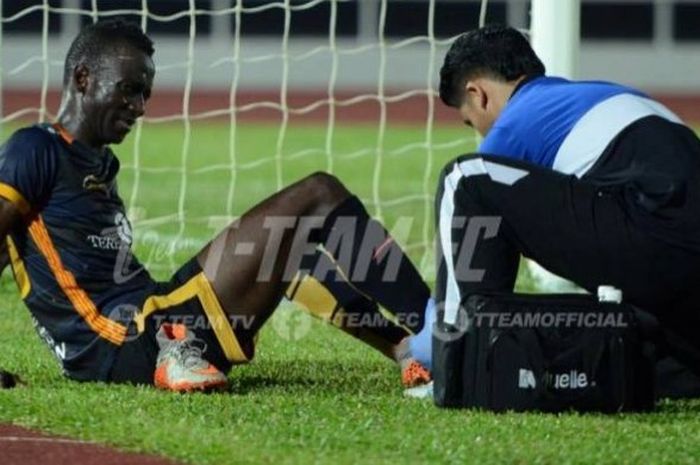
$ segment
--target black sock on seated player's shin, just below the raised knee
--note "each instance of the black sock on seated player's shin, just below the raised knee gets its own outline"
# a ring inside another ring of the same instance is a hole
[[[401,326],[413,332],[423,327],[430,289],[357,197],[336,207],[312,238],[324,246],[358,291],[394,314]]]

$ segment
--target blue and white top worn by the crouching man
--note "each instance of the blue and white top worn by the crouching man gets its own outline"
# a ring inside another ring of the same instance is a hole
[[[625,128],[649,116],[681,122],[629,87],[538,77],[516,89],[479,152],[581,177]]]

